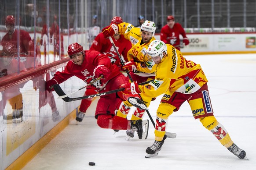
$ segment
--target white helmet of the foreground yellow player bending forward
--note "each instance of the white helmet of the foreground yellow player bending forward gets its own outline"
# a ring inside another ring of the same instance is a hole
[[[160,56],[162,60],[166,54],[167,54],[167,46],[163,41],[154,40],[148,46],[148,49],[147,49],[148,57]]]

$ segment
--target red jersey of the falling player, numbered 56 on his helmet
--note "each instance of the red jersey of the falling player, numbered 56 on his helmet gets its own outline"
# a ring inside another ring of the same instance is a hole
[[[68,64],[66,65],[65,69],[60,72],[57,71],[54,74],[53,79],[55,79],[58,84],[66,81],[67,79],[71,78],[72,76],[76,76],[77,78],[82,79],[87,84],[94,79],[93,71],[95,67],[98,65],[104,65],[108,69],[110,69],[111,74],[109,80],[116,77],[118,74],[121,74],[118,67],[116,65],[112,65],[110,63],[110,59],[102,53],[94,50],[84,50],[84,61],[82,65],[74,64],[72,60],[69,60]],[[100,88],[96,84],[94,84],[96,88]]]

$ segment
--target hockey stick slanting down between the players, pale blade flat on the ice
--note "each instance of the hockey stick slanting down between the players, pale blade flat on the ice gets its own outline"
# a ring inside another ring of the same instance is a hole
[[[109,36],[109,39],[110,39],[110,42],[111,42],[112,46],[114,47],[114,49],[115,49],[116,52],[117,52],[117,56],[119,57],[119,60],[120,60],[121,64],[124,66],[124,61],[122,60],[122,57],[121,57],[120,53],[118,52],[117,47],[116,47],[116,45],[114,44],[112,37]],[[132,77],[131,77],[131,75],[130,75],[130,73],[129,73],[128,70],[126,70],[126,73],[127,73],[128,77],[129,77],[130,81],[133,82]],[[139,96],[140,96],[140,95],[139,95]],[[140,96],[140,98],[141,98],[141,96]],[[151,117],[151,115],[150,115],[150,113],[149,113],[149,110],[146,110],[146,113],[147,113],[148,117],[150,118],[150,120],[151,120],[153,126],[155,127],[156,124],[155,124],[153,118]],[[165,135],[166,135],[168,138],[176,138],[176,133],[171,133],[171,132],[165,131]]]

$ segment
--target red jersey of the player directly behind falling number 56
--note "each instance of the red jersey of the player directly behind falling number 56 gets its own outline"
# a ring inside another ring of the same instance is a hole
[[[124,62],[127,62],[127,53],[132,48],[132,43],[128,39],[125,39],[124,35],[120,35],[119,39],[113,38],[113,42],[116,45],[119,54],[122,55]],[[105,54],[110,58],[112,64],[119,67],[120,59],[116,53],[116,50],[112,46],[110,40],[104,37],[102,32],[96,36],[90,50],[99,51],[100,53]]]

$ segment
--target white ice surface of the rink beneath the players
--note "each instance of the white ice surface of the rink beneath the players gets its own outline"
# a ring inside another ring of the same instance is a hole
[[[185,57],[201,64],[214,115],[249,160],[222,146],[194,120],[187,103],[169,117],[167,131],[177,137],[167,138],[158,156],[146,159],[145,150],[154,142],[151,122],[146,140],[135,135],[126,141],[125,131],[113,135],[113,130],[97,126],[96,99],[82,123],[73,120],[23,170],[256,170],[256,54]],[[149,107],[154,120],[160,99]],[[148,119],[146,113],[143,119]]]

